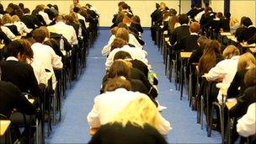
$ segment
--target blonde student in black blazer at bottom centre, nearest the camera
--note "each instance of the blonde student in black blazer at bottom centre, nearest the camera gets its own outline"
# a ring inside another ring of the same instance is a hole
[[[160,113],[152,101],[141,95],[132,99],[109,123],[101,125],[89,144],[167,144],[159,130]]]

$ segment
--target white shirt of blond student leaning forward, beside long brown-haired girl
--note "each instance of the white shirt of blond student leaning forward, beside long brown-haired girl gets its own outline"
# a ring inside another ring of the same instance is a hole
[[[220,61],[216,64],[216,67],[211,68],[211,70],[206,75],[206,78],[214,81],[218,77],[223,77],[222,83],[225,84],[228,88],[236,75],[239,57],[240,56],[232,56],[231,59]],[[221,90],[218,93],[217,99],[219,100],[219,102],[222,101]]]

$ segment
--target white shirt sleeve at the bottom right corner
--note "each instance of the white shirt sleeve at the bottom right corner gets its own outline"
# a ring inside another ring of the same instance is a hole
[[[250,104],[247,113],[237,120],[237,132],[244,137],[256,133],[256,103]]]

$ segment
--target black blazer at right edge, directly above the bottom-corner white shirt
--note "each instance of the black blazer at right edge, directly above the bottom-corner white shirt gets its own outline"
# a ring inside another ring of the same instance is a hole
[[[256,86],[245,89],[243,95],[237,98],[237,104],[229,110],[231,117],[241,117],[246,114],[248,106],[256,102]]]

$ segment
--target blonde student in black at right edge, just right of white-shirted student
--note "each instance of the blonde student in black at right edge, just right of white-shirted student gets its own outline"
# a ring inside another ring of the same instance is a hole
[[[256,67],[253,54],[247,52],[239,57],[237,73],[227,89],[227,98],[237,98],[247,88],[244,84],[244,75],[250,68]]]

